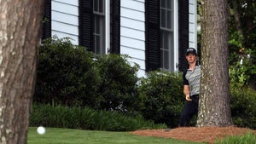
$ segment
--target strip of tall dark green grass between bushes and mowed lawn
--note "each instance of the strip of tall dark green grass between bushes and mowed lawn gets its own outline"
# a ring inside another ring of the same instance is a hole
[[[89,107],[63,107],[61,105],[34,104],[30,117],[30,126],[131,131],[139,129],[164,129],[165,124],[154,124],[141,116],[128,117],[119,112],[96,111]]]

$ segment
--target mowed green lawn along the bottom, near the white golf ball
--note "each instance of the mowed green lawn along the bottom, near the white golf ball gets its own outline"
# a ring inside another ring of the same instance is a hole
[[[46,128],[44,135],[38,135],[37,128],[28,130],[28,144],[199,144],[199,142],[177,141],[160,137],[131,135],[129,132],[96,130],[72,130]]]

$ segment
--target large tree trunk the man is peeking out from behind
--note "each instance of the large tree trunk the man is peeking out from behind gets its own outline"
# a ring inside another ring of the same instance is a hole
[[[202,0],[201,95],[197,126],[229,126],[228,7]]]

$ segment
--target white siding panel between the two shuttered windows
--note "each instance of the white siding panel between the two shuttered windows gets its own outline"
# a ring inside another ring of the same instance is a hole
[[[131,56],[140,66],[138,77],[145,76],[145,3],[121,0],[120,53]]]

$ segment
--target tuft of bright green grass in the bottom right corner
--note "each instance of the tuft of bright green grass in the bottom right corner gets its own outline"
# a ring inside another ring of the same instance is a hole
[[[232,135],[224,140],[216,140],[215,144],[253,144],[256,141],[256,136],[253,133],[247,133],[247,135]]]

